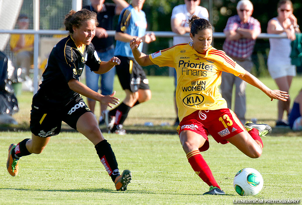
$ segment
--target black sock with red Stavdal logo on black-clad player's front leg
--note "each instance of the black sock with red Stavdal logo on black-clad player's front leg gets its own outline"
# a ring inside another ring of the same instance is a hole
[[[118,170],[117,161],[114,152],[111,149],[111,145],[104,139],[95,145],[95,150],[101,160],[101,163],[104,165],[106,171],[114,182],[115,178],[120,175],[120,172]]]

